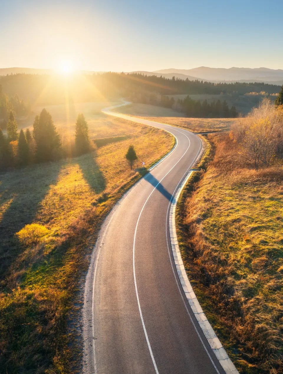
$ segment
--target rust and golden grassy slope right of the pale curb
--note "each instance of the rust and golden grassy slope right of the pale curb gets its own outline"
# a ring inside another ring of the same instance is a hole
[[[240,373],[282,373],[283,170],[252,170],[227,133],[208,137],[215,157],[178,204],[185,268]]]

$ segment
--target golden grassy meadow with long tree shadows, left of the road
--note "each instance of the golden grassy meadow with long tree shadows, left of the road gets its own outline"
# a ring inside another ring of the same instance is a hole
[[[95,116],[91,138],[124,138],[80,157],[0,175],[3,373],[72,372],[67,319],[86,254],[111,207],[139,178],[126,162],[127,148],[133,144],[149,166],[175,142],[159,129]]]

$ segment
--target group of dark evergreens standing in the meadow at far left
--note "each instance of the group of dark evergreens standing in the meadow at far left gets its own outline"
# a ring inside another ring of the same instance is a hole
[[[46,109],[35,117],[32,131],[21,129],[20,132],[14,114],[10,111],[6,130],[7,135],[4,135],[0,129],[0,171],[31,163],[55,161],[67,156],[52,116]],[[91,149],[87,122],[80,113],[77,116],[71,156],[87,153]]]

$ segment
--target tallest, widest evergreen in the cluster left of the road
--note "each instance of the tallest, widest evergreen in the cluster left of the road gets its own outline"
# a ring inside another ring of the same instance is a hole
[[[61,156],[61,140],[52,117],[45,108],[34,119],[33,137],[38,162],[53,161]]]

